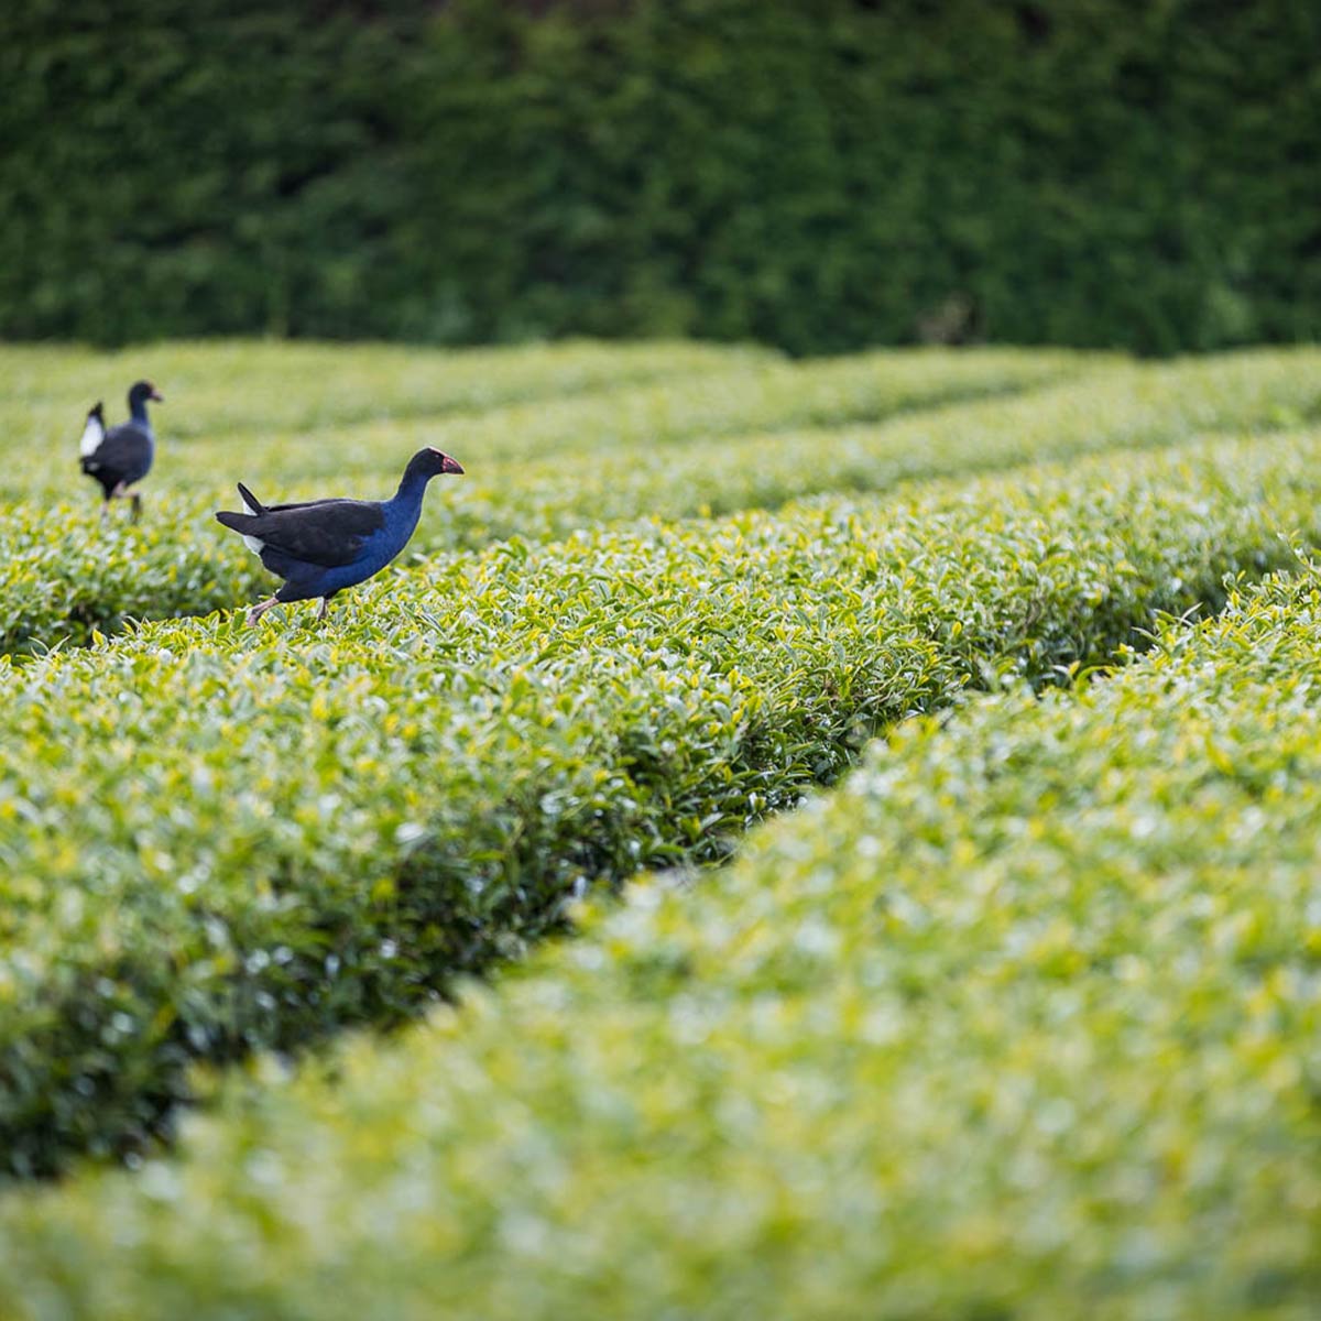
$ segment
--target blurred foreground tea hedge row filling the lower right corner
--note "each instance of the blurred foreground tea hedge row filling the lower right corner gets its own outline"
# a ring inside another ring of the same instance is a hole
[[[0,1206],[16,1321],[1303,1321],[1314,572],[906,724],[695,888],[178,1159]]]

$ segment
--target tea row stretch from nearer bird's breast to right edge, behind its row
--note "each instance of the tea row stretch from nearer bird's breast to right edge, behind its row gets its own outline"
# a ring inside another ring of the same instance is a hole
[[[1090,359],[1083,359],[1090,361]],[[789,499],[881,491],[1108,449],[1176,445],[1217,431],[1321,420],[1321,353],[1236,353],[1106,366],[1009,398],[926,408],[867,425],[694,437],[682,449],[625,448],[590,464],[498,466],[437,502],[421,535],[477,547],[497,536],[563,536],[592,520],[774,509]]]

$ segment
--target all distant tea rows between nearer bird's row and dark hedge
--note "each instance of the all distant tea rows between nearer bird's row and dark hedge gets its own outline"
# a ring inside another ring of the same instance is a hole
[[[12,458],[0,499],[13,501],[0,520],[0,654],[255,598],[271,576],[211,520],[234,505],[235,481],[268,499],[386,494],[424,444],[458,454],[468,474],[427,502],[406,560],[1321,416],[1313,349],[1143,365],[1005,349],[787,363],[659,343],[461,355],[231,343],[136,357],[170,382],[162,453],[151,517],[106,528],[90,483],[70,473],[71,423],[75,400],[114,398],[125,359],[0,349],[0,371],[20,382],[0,400],[0,458]]]

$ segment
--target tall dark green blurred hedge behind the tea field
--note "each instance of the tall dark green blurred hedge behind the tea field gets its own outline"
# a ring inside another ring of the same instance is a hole
[[[1321,11],[29,0],[0,334],[1321,334]]]

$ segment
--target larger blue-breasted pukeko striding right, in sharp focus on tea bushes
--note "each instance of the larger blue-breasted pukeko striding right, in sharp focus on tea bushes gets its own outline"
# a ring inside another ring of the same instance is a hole
[[[464,469],[439,449],[419,449],[391,499],[314,499],[301,505],[263,505],[242,482],[246,514],[217,511],[217,519],[238,532],[248,550],[284,587],[248,610],[258,620],[277,602],[321,597],[324,620],[330,597],[379,573],[407,544],[421,517],[427,483],[441,473]]]

